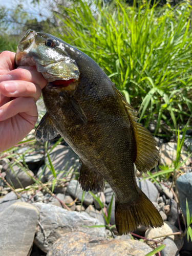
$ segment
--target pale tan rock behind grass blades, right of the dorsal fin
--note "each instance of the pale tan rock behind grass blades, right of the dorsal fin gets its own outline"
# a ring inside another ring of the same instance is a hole
[[[176,160],[177,155],[177,143],[168,142],[163,143],[160,147],[160,158],[159,165],[168,165],[173,166],[173,162]],[[184,161],[187,158],[186,154],[181,151],[181,161]],[[189,159],[186,160],[185,166],[190,165]]]

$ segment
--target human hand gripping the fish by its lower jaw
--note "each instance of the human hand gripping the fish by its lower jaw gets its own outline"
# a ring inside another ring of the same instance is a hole
[[[35,66],[14,69],[15,53],[0,55],[0,152],[16,145],[34,128],[36,101],[46,79]]]

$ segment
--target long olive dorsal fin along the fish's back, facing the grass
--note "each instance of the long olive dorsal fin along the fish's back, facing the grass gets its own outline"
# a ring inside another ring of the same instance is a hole
[[[127,115],[130,118],[130,121],[134,127],[135,140],[137,146],[137,157],[135,161],[136,168],[139,172],[146,173],[148,170],[151,170],[154,166],[157,165],[159,159],[159,149],[157,142],[153,135],[146,130],[142,124],[138,123],[139,119],[136,117],[137,111],[135,111],[132,106],[126,102],[122,94],[117,90],[118,95],[121,97],[121,100],[127,111]]]

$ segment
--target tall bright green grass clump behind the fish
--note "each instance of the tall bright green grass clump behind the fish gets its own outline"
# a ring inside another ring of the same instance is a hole
[[[175,136],[192,113],[191,6],[60,7],[63,40],[93,58],[155,135]],[[163,132],[160,133],[159,129]]]

